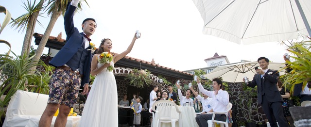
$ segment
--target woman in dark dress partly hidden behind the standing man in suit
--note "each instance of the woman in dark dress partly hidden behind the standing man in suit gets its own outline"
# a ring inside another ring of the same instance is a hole
[[[276,86],[278,88],[278,91],[280,92],[284,102],[283,102],[283,112],[284,116],[286,117],[287,121],[290,123],[291,127],[294,127],[294,120],[292,118],[290,107],[292,107],[292,103],[289,103],[290,93],[289,91],[282,86],[283,83],[280,79],[277,79]]]

